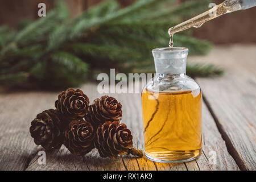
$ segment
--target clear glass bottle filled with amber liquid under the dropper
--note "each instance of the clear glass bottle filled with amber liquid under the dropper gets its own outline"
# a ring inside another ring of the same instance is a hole
[[[188,49],[152,50],[156,75],[142,90],[144,149],[155,162],[178,163],[201,154],[200,86],[185,75]]]

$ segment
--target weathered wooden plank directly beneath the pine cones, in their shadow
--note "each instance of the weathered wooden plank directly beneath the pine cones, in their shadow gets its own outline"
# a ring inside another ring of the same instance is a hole
[[[100,97],[96,84],[86,84],[81,89],[91,102]],[[117,96],[115,97],[121,101]],[[62,146],[59,151],[47,152],[46,154],[46,165],[39,165],[39,156],[35,155],[27,170],[126,170],[122,158],[114,160],[101,158],[96,149],[85,156],[74,156]]]

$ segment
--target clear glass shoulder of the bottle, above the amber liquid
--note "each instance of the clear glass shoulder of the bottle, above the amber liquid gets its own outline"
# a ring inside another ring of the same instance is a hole
[[[152,78],[147,82],[147,85],[144,86],[143,91],[145,89],[150,92],[191,92],[195,96],[201,94],[199,84],[189,76],[178,77],[172,80],[164,80],[161,77]]]

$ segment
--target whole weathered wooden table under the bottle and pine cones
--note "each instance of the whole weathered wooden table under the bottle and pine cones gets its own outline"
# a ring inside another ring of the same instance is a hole
[[[96,150],[73,156],[62,146],[47,152],[46,165],[38,164],[38,151],[28,131],[40,111],[54,108],[58,92],[0,93],[1,170],[255,170],[256,46],[215,47],[207,56],[189,57],[225,68],[221,78],[197,78],[204,95],[203,154],[192,162],[154,163],[124,155],[100,158]],[[96,84],[81,88],[90,100],[100,97]],[[112,94],[123,105],[122,122],[143,149],[140,94]],[[213,153],[216,152],[216,163]]]

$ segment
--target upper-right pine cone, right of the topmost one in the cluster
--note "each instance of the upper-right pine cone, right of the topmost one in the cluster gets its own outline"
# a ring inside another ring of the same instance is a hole
[[[93,101],[89,106],[85,120],[96,128],[106,121],[120,121],[122,119],[122,105],[113,97],[103,96]]]

